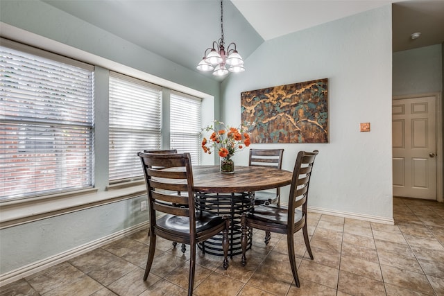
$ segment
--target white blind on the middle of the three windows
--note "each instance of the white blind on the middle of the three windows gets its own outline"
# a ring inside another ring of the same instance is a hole
[[[162,88],[110,72],[110,183],[143,177],[137,152],[160,149]]]

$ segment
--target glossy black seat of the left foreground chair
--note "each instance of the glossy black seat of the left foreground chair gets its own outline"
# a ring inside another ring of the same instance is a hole
[[[196,212],[196,232],[203,232],[223,223],[224,218],[207,211]],[[189,234],[189,218],[167,214],[158,218],[157,227],[180,234]]]

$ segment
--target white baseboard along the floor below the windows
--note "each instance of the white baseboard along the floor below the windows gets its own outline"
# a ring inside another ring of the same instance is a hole
[[[62,263],[64,261],[67,261],[71,258],[74,258],[75,256],[85,254],[89,251],[92,251],[98,247],[101,247],[103,245],[106,245],[108,243],[112,243],[112,241],[117,241],[119,238],[123,238],[123,236],[128,236],[130,234],[133,234],[135,232],[138,232],[139,230],[142,230],[146,227],[148,227],[149,223],[148,221],[144,223],[140,223],[138,225],[135,225],[133,227],[123,229],[119,232],[115,232],[114,234],[110,234],[108,236],[105,236],[103,238],[99,238],[95,241],[91,241],[89,243],[85,243],[84,245],[79,245],[78,247],[75,247],[74,249],[67,250],[65,252],[62,252],[60,254],[56,254],[54,256],[51,256],[49,258],[36,261],[34,263],[25,265],[21,268],[17,268],[16,270],[12,270],[10,272],[6,272],[3,275],[0,275],[0,287],[4,286],[6,284],[12,283],[12,281],[17,281],[17,279],[22,279],[24,277],[28,277],[30,275],[35,274],[36,272],[39,272],[41,270],[44,270],[46,268],[49,268],[53,265],[56,265],[58,263]]]

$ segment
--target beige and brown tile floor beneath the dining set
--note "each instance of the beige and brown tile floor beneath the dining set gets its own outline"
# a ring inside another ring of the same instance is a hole
[[[248,264],[223,270],[221,257],[198,253],[194,295],[444,295],[444,204],[394,199],[395,225],[309,213],[314,260],[296,235],[301,288],[293,284],[285,236],[266,246],[256,232]],[[146,232],[0,288],[0,295],[187,295],[189,252],[160,239],[142,281]]]

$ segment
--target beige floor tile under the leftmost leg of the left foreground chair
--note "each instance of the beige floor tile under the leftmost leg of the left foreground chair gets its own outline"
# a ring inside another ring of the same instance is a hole
[[[107,288],[119,296],[133,296],[141,294],[160,280],[160,277],[150,273],[148,279],[144,281],[144,270],[142,270],[142,268],[136,268],[117,281],[114,281]]]

